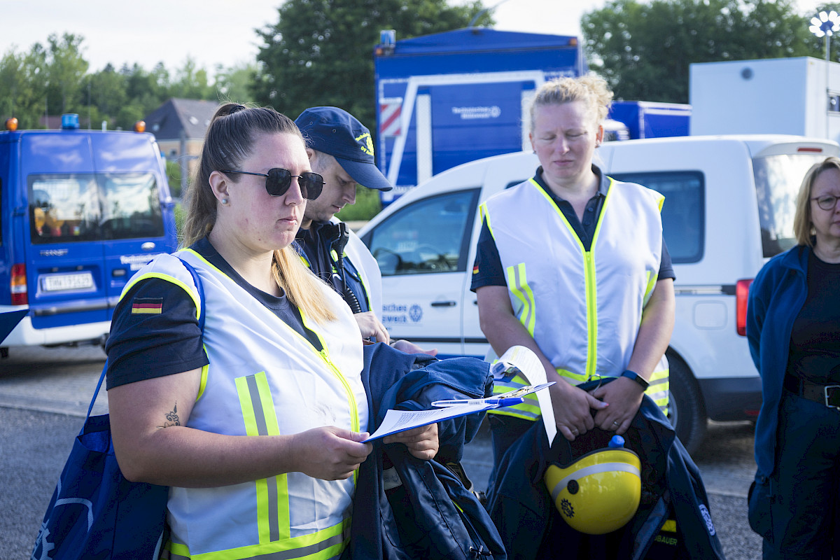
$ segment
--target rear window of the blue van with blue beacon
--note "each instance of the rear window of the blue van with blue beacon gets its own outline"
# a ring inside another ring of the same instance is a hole
[[[102,173],[29,176],[32,243],[160,237],[155,176]]]

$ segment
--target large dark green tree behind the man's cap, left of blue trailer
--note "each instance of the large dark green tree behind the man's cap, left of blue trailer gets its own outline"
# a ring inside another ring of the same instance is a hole
[[[373,128],[373,47],[381,29],[398,39],[466,27],[480,0],[287,0],[279,20],[258,32],[255,102],[296,118],[317,105],[342,107]],[[492,24],[489,13],[477,24]]]

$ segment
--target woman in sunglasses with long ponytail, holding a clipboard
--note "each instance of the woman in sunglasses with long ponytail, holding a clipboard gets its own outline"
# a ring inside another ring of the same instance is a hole
[[[188,249],[139,270],[114,311],[114,449],[127,479],[170,487],[164,557],[346,546],[371,450],[361,335],[289,247],[322,186],[291,119],[220,107],[187,191]],[[389,441],[432,458],[437,429]]]

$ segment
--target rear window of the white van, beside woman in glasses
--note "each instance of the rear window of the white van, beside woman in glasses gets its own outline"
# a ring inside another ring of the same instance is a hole
[[[823,154],[782,154],[753,160],[764,257],[773,257],[796,244],[796,195],[807,170],[825,158]]]

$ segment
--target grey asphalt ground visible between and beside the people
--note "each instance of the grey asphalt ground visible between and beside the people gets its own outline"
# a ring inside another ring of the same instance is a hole
[[[0,361],[0,560],[28,558],[73,438],[104,363],[98,347],[13,348]],[[107,411],[103,389],[94,414]],[[730,560],[761,557],[761,540],[746,519],[754,462],[748,423],[714,423],[695,454],[710,510]],[[465,450],[477,489],[491,468],[485,429]]]

